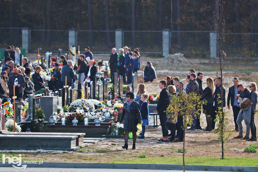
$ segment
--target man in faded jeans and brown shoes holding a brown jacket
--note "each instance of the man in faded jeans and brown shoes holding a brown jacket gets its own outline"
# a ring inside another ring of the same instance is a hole
[[[238,99],[240,99],[240,98],[244,99],[244,98],[249,97],[250,91],[247,88],[245,88],[242,84],[238,84],[237,89],[240,92],[240,94],[237,95]],[[242,138],[242,139],[246,140],[246,139],[249,139],[250,124],[246,120],[244,120],[242,112],[243,112],[243,109],[240,109],[238,116],[237,116],[237,121],[236,121],[237,125],[238,125],[238,129],[239,129],[239,134],[238,134],[238,136],[236,136],[234,138]],[[245,137],[243,137],[243,125],[242,125],[243,120],[247,127]],[[249,127],[248,127],[248,125],[249,125]],[[248,130],[248,128],[249,128],[249,130]]]

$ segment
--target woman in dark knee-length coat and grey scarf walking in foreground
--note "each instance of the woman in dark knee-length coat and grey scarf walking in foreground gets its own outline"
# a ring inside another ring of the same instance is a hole
[[[123,149],[128,148],[128,138],[129,132],[133,133],[133,150],[135,149],[136,142],[136,132],[137,132],[137,124],[142,122],[140,106],[137,102],[133,100],[134,93],[129,91],[126,93],[126,102],[124,103],[124,109],[121,114],[121,118],[119,124],[122,124],[124,121],[124,130],[125,130],[125,145],[122,146]]]

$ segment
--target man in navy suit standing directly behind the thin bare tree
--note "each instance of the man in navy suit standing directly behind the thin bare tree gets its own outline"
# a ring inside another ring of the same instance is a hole
[[[212,110],[212,115],[211,115],[211,119],[212,119],[212,129],[214,129],[215,128],[215,119],[216,119],[216,112],[218,112],[219,110],[218,110],[218,107],[220,106],[221,107],[221,105],[223,106],[223,107],[225,107],[226,106],[226,96],[225,96],[225,94],[226,94],[226,90],[225,90],[225,87],[222,85],[222,83],[221,83],[221,77],[217,77],[216,79],[215,79],[215,82],[214,82],[214,84],[216,85],[216,89],[215,89],[215,91],[214,91],[214,93],[213,93],[213,110]],[[219,102],[218,102],[218,97],[220,96],[220,100],[221,100],[221,90],[223,91],[223,97],[222,97],[222,103],[221,104],[219,104]],[[216,111],[216,112],[215,112]]]

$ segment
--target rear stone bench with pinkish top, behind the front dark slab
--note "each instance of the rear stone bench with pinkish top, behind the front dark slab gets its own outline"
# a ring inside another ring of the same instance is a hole
[[[53,136],[63,136],[63,135],[67,135],[67,136],[78,136],[76,138],[76,146],[86,146],[87,144],[83,143],[83,136],[85,135],[85,133],[77,133],[77,132],[8,132],[5,134],[14,134],[14,135],[38,135],[38,136],[42,136],[42,135],[53,135]]]

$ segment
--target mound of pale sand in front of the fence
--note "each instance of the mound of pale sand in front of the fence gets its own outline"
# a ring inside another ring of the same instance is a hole
[[[182,53],[168,54],[161,61],[161,66],[190,66]]]

